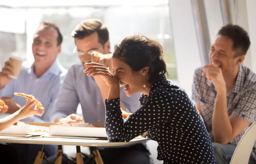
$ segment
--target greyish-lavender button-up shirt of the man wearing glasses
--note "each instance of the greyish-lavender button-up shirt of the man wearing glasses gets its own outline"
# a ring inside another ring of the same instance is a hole
[[[57,96],[50,121],[57,117],[67,117],[76,113],[78,104],[81,104],[84,122],[104,124],[105,104],[101,91],[94,78],[83,73],[82,64],[73,65],[68,69],[63,86]],[[120,99],[127,112],[135,112],[140,108],[141,93],[127,97],[123,88],[120,88]]]

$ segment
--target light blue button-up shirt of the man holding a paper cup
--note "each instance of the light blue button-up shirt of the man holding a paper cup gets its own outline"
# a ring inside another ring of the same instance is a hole
[[[0,90],[1,96],[13,97],[14,101],[24,106],[26,98],[14,95],[14,92],[33,95],[42,103],[45,113],[39,117],[29,117],[21,121],[49,122],[50,114],[67,70],[56,60],[52,66],[39,78],[34,73],[33,64],[24,64],[17,79],[13,79]]]

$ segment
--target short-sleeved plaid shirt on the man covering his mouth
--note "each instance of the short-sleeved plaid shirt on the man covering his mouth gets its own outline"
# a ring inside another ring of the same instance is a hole
[[[202,73],[202,67],[195,70],[192,99],[201,106],[204,124],[213,141],[212,114],[217,92],[212,82],[203,77]],[[256,121],[256,74],[247,67],[240,66],[234,87],[227,94],[227,112],[229,116],[233,114],[251,124]],[[229,144],[237,145],[248,128],[249,126]],[[253,146],[252,155],[256,159],[256,143]]]

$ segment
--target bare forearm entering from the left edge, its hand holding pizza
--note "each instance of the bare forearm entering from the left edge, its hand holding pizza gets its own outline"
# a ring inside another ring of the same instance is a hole
[[[8,128],[9,126],[13,125],[15,122],[19,121],[20,119],[22,118],[19,116],[19,111],[11,114],[10,116],[0,119],[0,132]]]

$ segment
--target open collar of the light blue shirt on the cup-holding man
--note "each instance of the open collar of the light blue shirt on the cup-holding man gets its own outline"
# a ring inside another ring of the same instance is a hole
[[[59,61],[56,59],[53,62],[53,64],[50,66],[50,68],[48,70],[46,70],[45,73],[42,75],[42,78],[47,76],[48,74],[53,74],[53,75],[59,76],[60,73],[62,72],[62,70],[64,70],[64,68],[60,65]],[[33,75],[35,75],[34,63],[29,67],[28,73],[32,73]]]

